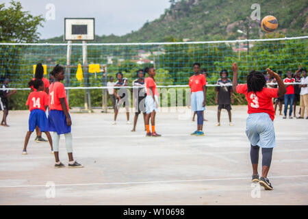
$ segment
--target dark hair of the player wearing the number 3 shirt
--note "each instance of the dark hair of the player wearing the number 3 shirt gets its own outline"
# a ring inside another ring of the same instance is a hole
[[[266,78],[257,70],[252,70],[247,76],[247,92],[260,92],[266,86]]]

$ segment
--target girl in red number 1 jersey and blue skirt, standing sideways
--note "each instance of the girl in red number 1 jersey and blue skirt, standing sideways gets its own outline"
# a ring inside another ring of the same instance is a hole
[[[68,103],[64,85],[60,81],[64,80],[64,68],[56,65],[51,72],[55,81],[49,87],[49,131],[53,131],[53,151],[55,153],[55,168],[63,168],[64,164],[59,159],[60,135],[64,134],[66,151],[68,153],[68,168],[84,167],[73,159],[72,134],[70,133],[70,114],[68,113]]]

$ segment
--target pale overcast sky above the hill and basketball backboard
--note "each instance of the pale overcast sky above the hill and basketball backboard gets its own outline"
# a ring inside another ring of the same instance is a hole
[[[19,0],[23,10],[33,15],[51,18],[38,31],[41,38],[60,36],[64,31],[65,17],[94,17],[95,34],[123,35],[136,31],[148,20],[153,21],[169,8],[169,0]],[[3,1],[2,1],[3,2]],[[4,0],[5,8],[10,0]],[[55,7],[55,18],[48,16],[48,4]]]

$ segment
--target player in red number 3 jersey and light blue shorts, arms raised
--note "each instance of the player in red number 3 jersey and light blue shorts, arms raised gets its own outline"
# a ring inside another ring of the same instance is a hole
[[[247,83],[238,85],[238,66],[234,62],[233,92],[245,94],[248,102],[248,118],[246,120],[246,136],[251,142],[251,164],[253,164],[252,181],[259,182],[266,190],[272,190],[268,180],[268,170],[272,161],[272,150],[275,146],[274,107],[272,98],[287,92],[282,79],[268,68],[268,74],[277,80],[278,88],[265,88],[266,79],[260,72],[253,70],[247,76]],[[262,149],[262,175],[258,175],[259,148]]]

